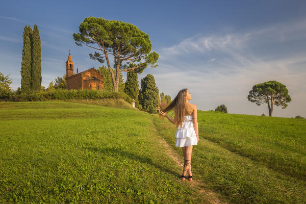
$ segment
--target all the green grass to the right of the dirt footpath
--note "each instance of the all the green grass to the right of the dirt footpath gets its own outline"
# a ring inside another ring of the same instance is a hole
[[[195,179],[232,203],[306,203],[305,121],[198,111],[198,122]],[[175,126],[157,116],[155,125],[182,154]]]

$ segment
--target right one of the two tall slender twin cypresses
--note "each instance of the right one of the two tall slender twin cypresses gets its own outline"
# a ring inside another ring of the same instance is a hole
[[[41,47],[38,27],[34,24],[32,34],[32,90],[40,91],[41,86]]]

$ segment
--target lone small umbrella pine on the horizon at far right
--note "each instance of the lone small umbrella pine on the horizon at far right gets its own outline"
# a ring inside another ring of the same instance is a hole
[[[272,117],[273,105],[282,106],[282,109],[285,109],[288,106],[287,103],[291,101],[286,86],[276,81],[254,85],[247,99],[257,106],[268,104],[270,117]]]

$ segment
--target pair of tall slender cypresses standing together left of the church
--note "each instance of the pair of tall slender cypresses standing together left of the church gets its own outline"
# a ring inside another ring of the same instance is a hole
[[[31,93],[41,90],[41,46],[39,30],[25,25],[21,61],[21,91]]]

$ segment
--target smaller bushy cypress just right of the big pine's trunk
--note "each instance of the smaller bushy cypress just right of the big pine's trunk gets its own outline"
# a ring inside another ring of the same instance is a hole
[[[136,72],[127,72],[124,92],[136,101],[138,100],[139,88],[138,74]]]

